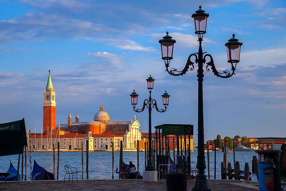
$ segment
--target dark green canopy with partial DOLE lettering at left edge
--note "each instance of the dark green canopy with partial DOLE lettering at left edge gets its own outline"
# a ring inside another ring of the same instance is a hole
[[[25,119],[0,124],[0,156],[22,154],[27,145]]]

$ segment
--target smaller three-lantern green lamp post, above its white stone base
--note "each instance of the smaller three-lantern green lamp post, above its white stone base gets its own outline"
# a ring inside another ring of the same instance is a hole
[[[144,111],[145,108],[148,108],[149,111],[149,136],[148,136],[148,148],[149,148],[149,152],[148,152],[148,162],[147,162],[147,166],[145,168],[146,171],[155,171],[155,167],[153,165],[153,160],[152,160],[152,134],[151,134],[151,111],[152,108],[155,108],[156,111],[158,112],[165,112],[167,109],[167,106],[169,105],[169,97],[170,95],[167,93],[167,91],[164,92],[164,94],[162,95],[163,98],[163,105],[165,106],[164,109],[158,109],[157,107],[157,102],[156,100],[151,98],[151,90],[153,89],[153,85],[154,85],[154,78],[150,77],[146,79],[147,80],[147,86],[149,89],[149,99],[145,99],[143,102],[143,107],[142,109],[135,109],[136,105],[137,105],[137,98],[138,98],[138,94],[135,92],[132,92],[131,96],[131,104],[133,105],[133,109],[136,112],[142,112]]]

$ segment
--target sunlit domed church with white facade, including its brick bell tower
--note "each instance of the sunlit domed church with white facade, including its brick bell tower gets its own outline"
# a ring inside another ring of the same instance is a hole
[[[130,121],[110,121],[109,115],[101,105],[99,111],[94,115],[94,119],[88,122],[80,122],[76,113],[75,122],[72,122],[72,115],[69,112],[67,123],[55,125],[55,91],[49,77],[44,91],[43,103],[43,133],[52,134],[60,130],[60,135],[65,133],[85,134],[111,134],[123,137],[123,148],[134,148],[136,141],[141,140],[142,133],[139,131],[140,123],[134,119]]]

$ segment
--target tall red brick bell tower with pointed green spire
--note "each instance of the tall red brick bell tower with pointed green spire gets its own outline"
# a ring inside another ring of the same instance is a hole
[[[43,133],[55,129],[55,91],[51,80],[50,70],[46,89],[44,90]]]

